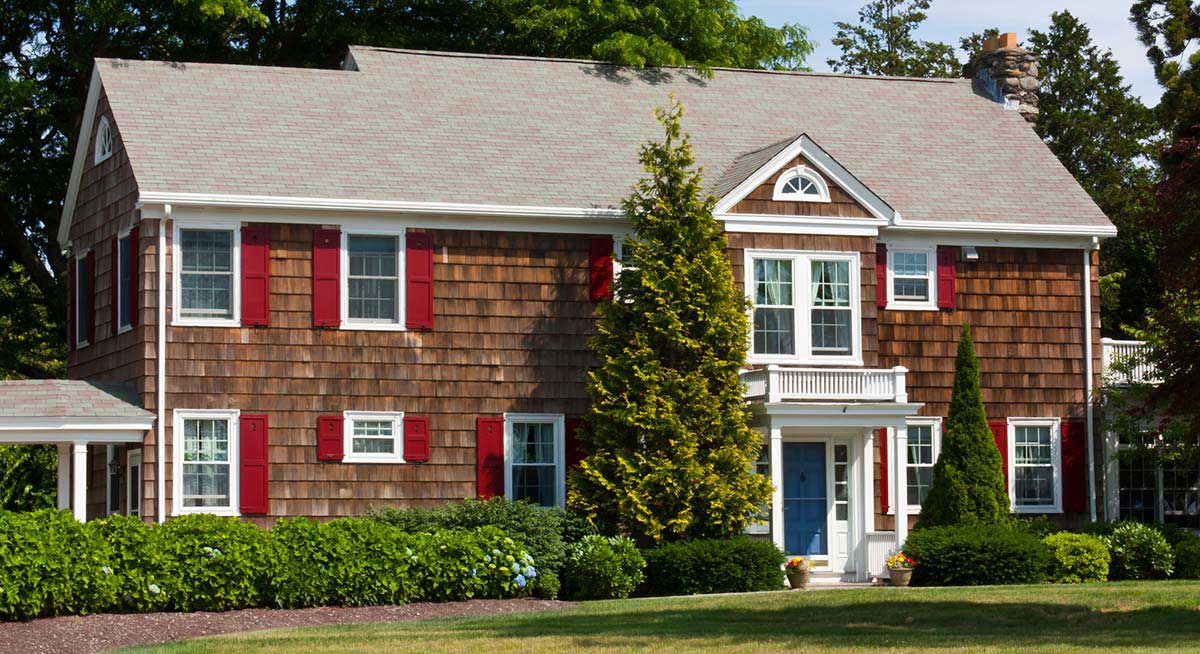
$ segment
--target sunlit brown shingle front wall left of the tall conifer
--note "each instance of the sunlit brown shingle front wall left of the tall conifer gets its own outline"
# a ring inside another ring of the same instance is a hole
[[[313,228],[270,229],[270,326],[168,328],[167,401],[269,415],[271,516],[474,497],[476,416],[584,412],[587,236],[433,232],[434,329],[398,332],[313,329]],[[427,416],[430,462],[318,462],[343,410]]]

